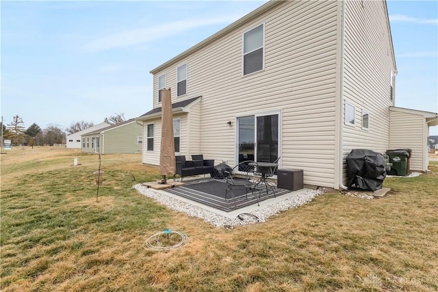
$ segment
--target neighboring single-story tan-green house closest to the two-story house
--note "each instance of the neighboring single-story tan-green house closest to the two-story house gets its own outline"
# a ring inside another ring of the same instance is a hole
[[[82,152],[123,154],[142,152],[143,127],[135,119],[81,136]]]

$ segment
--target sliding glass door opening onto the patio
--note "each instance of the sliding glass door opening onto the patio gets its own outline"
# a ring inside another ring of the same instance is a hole
[[[279,157],[279,114],[237,118],[238,162],[274,162]]]

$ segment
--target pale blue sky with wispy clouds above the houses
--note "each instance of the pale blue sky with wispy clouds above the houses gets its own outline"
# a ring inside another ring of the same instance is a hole
[[[1,1],[1,115],[42,129],[152,108],[149,71],[266,1]],[[387,1],[396,106],[438,112],[437,1]],[[430,133],[438,135],[437,127]]]

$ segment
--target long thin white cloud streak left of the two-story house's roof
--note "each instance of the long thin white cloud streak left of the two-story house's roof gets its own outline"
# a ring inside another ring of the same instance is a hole
[[[183,31],[195,29],[196,27],[203,27],[207,25],[214,25],[218,23],[231,23],[239,16],[225,16],[222,18],[209,19],[193,19],[189,21],[175,21],[154,27],[145,27],[142,29],[131,29],[123,31],[118,34],[112,34],[103,38],[97,38],[83,46],[84,51],[105,51],[120,47],[129,47],[136,44],[144,44],[160,38],[168,38],[181,34]]]

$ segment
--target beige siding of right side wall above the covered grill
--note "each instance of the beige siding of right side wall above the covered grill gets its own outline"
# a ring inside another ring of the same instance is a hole
[[[343,126],[344,158],[355,148],[381,153],[389,148],[391,70],[396,66],[385,2],[345,3],[344,99],[355,106],[356,122]],[[345,103],[342,107],[345,114]],[[361,127],[362,110],[370,117],[368,131]]]

